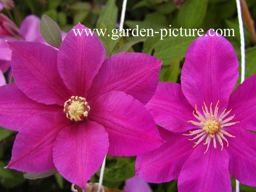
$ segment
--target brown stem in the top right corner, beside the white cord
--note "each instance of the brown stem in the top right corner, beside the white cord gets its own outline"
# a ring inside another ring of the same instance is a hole
[[[244,24],[248,28],[252,43],[255,44],[256,32],[255,32],[255,27],[254,27],[254,21],[252,20],[250,11],[248,9],[248,6],[247,6],[245,0],[240,0],[240,2],[241,2]]]

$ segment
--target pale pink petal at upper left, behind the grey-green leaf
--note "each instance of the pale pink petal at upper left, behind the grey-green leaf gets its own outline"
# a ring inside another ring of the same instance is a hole
[[[36,15],[28,15],[20,25],[20,35],[25,41],[44,43],[43,37],[39,31],[40,19]]]

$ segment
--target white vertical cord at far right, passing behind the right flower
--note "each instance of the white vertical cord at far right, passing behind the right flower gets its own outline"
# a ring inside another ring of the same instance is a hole
[[[236,0],[236,7],[237,7],[237,14],[238,14],[240,42],[241,42],[241,83],[243,83],[245,79],[245,45],[244,45],[244,27],[243,27],[240,0]],[[240,191],[239,185],[240,185],[239,181],[236,180],[236,192]]]

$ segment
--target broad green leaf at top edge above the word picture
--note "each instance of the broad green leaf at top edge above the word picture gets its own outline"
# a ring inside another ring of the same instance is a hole
[[[187,0],[178,14],[182,28],[196,28],[206,14],[208,0]]]

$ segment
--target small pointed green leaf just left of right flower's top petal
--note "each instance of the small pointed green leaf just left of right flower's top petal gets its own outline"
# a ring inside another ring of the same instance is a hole
[[[176,82],[179,75],[180,60],[176,58],[170,67],[165,71],[163,80],[167,82]]]

